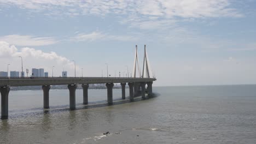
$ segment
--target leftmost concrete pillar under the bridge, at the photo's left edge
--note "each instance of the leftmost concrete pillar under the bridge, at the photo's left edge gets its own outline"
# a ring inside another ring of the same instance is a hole
[[[1,92],[1,119],[8,119],[8,95],[10,87],[0,87]]]

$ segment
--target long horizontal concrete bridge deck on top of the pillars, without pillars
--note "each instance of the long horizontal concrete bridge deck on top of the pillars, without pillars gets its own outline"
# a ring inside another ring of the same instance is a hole
[[[153,82],[155,78],[133,77],[0,77],[0,87],[72,85],[90,83]]]

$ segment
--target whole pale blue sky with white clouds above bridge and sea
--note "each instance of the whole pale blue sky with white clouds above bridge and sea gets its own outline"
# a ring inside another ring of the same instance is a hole
[[[126,76],[146,44],[155,86],[255,84],[255,26],[256,0],[0,0],[0,71]]]

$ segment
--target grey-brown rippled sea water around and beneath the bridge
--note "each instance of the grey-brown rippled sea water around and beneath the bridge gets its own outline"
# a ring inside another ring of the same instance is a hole
[[[256,143],[256,85],[153,85],[153,92],[130,103],[113,89],[108,106],[107,89],[89,89],[85,106],[78,89],[77,110],[69,111],[67,89],[50,90],[49,110],[42,91],[11,91],[0,143]]]

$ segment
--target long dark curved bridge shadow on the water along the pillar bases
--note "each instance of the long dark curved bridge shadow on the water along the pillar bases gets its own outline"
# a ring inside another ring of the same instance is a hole
[[[154,93],[152,97],[146,97],[145,100],[153,99],[158,97],[160,94]],[[99,100],[99,101],[89,101],[88,105],[84,105],[83,103],[76,104],[75,110],[84,110],[84,109],[94,109],[98,107],[107,107],[111,105],[120,105],[126,103],[134,103],[137,101],[143,101],[141,96],[135,97],[133,101],[130,101],[129,97],[125,99],[117,98],[113,99],[113,104],[108,104],[107,100]],[[75,111],[74,110],[74,111]],[[22,110],[11,110],[9,111],[9,119],[15,118],[27,118],[33,116],[40,116],[40,115],[49,115],[51,113],[60,113],[64,111],[71,111],[69,110],[69,105],[58,105],[58,106],[50,106],[49,109],[43,109],[42,107],[37,107],[33,109],[22,109]]]

